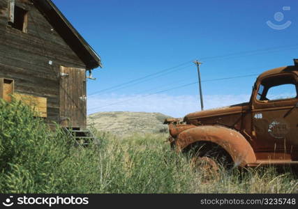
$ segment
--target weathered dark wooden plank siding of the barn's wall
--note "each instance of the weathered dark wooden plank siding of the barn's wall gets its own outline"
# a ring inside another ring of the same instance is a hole
[[[46,97],[47,119],[59,122],[60,65],[86,67],[30,1],[15,1],[29,10],[27,33],[8,25],[8,0],[0,0],[0,77],[14,79],[19,93]]]

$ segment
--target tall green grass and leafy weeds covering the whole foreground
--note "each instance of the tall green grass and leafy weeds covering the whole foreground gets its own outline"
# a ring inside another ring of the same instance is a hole
[[[294,174],[274,167],[223,169],[220,178],[206,180],[170,149],[167,134],[97,135],[100,146],[75,147],[28,107],[0,100],[0,193],[298,192]]]

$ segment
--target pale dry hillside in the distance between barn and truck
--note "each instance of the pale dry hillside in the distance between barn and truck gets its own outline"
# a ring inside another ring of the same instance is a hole
[[[126,135],[134,132],[167,132],[167,125],[163,125],[165,118],[171,117],[160,113],[108,111],[89,115],[87,123],[99,131]]]

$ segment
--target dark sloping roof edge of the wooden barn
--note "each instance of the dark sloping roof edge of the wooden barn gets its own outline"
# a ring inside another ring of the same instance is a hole
[[[51,0],[31,0],[40,10],[40,13],[47,18],[47,21],[53,26],[55,31],[64,39],[64,41],[73,49],[73,52],[84,62],[87,70],[102,68],[100,56],[94,49],[82,38],[80,33],[73,27],[66,17],[60,12],[57,6]]]

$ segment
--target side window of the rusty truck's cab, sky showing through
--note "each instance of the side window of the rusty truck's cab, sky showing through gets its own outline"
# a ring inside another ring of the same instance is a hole
[[[264,79],[259,86],[257,99],[260,101],[290,98],[297,98],[296,80],[290,75]]]

